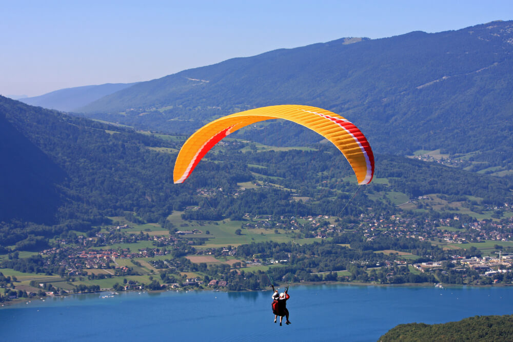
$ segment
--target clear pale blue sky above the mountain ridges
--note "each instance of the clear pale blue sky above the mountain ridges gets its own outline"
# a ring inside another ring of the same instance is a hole
[[[486,4],[486,5],[485,5]],[[148,81],[342,37],[513,19],[513,1],[0,0],[0,94]]]

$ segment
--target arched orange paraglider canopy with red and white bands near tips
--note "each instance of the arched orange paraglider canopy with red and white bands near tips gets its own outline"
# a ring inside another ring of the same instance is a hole
[[[358,184],[369,184],[374,174],[374,155],[363,133],[344,117],[328,110],[281,105],[246,110],[221,117],[192,134],[174,164],[174,183],[183,183],[203,156],[221,139],[245,126],[270,119],[285,119],[305,126],[328,139],[346,157]]]

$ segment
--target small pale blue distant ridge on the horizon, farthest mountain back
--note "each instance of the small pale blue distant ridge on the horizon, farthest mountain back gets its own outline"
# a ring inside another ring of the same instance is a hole
[[[76,110],[98,98],[133,86],[135,83],[107,83],[97,86],[83,86],[55,90],[40,96],[19,99],[32,106],[56,109],[64,112]]]

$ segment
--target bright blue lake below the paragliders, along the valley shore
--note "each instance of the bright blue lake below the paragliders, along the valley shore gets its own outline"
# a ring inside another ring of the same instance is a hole
[[[273,323],[270,291],[129,292],[4,307],[0,336],[13,341],[376,341],[398,324],[513,312],[513,288],[507,287],[294,286],[289,294],[289,326]]]

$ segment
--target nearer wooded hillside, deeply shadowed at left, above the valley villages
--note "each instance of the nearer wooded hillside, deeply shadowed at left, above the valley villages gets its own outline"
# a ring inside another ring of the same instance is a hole
[[[110,222],[109,216],[127,214],[167,229],[174,211],[196,220],[242,219],[246,213],[338,216],[341,208],[345,217],[368,210],[391,214],[401,211],[390,200],[396,193],[404,202],[440,193],[463,200],[471,196],[477,207],[511,203],[508,179],[377,155],[376,178],[348,204],[357,185],[331,144],[275,150],[227,139],[187,182],[175,185],[172,169],[184,136],[140,134],[6,97],[0,97],[0,113],[6,137],[0,145],[5,178],[0,246],[30,239],[30,234],[49,238],[88,231]],[[255,181],[261,185],[246,189],[245,183]],[[432,209],[422,213],[436,214]]]

